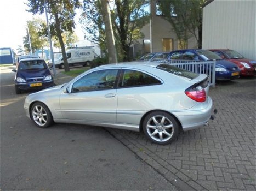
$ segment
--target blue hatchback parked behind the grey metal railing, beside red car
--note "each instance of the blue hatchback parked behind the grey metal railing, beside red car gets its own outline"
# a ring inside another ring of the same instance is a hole
[[[209,50],[187,49],[170,52],[168,59],[192,60],[192,61],[212,61],[216,60],[215,77],[216,80],[234,80],[240,77],[240,69],[236,64],[225,61],[217,54]]]

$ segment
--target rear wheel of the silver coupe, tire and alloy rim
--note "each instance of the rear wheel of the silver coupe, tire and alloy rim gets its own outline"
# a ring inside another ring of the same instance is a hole
[[[166,145],[177,138],[179,125],[177,120],[167,112],[155,111],[145,117],[143,131],[150,141]]]

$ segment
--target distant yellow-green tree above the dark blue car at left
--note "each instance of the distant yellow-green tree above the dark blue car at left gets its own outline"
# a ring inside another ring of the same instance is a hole
[[[33,18],[32,21],[27,21],[29,31],[26,31],[27,35],[23,37],[23,44],[27,52],[30,52],[30,42],[32,53],[35,53],[37,49],[43,49],[43,46],[47,43],[47,39],[40,34],[42,25],[44,24],[45,22],[39,18]]]

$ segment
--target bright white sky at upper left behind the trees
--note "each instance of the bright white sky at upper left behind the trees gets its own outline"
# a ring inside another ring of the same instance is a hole
[[[1,0],[0,1],[0,47],[10,47],[16,51],[19,45],[23,47],[23,37],[26,35],[26,22],[33,17],[46,20],[45,13],[32,15],[26,11],[27,0]],[[48,15],[49,17],[49,15]],[[84,40],[81,25],[76,18],[75,33],[79,40]]]

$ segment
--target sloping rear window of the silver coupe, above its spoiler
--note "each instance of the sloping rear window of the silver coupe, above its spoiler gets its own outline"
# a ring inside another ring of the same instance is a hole
[[[192,73],[191,71],[184,70],[182,68],[174,67],[173,65],[170,64],[160,64],[156,68],[167,71],[168,73],[181,76],[181,77],[186,77],[190,80],[195,79],[196,77],[199,76],[199,74]]]

